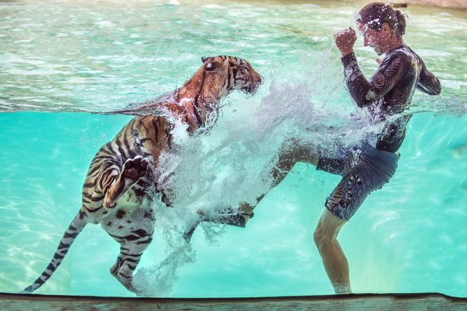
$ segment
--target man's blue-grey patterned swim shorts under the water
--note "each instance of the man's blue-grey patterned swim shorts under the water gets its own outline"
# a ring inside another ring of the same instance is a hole
[[[399,155],[364,144],[348,151],[344,158],[320,158],[317,169],[342,175],[337,187],[326,200],[326,208],[348,221],[365,198],[380,189],[394,175]]]

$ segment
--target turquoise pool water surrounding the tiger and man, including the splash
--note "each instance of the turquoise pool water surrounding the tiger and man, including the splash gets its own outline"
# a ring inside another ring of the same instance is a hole
[[[89,162],[130,119],[89,112],[171,91],[201,56],[228,54],[266,81],[254,97],[224,100],[210,135],[180,138],[172,181],[180,196],[174,209],[154,207],[154,241],[135,281],[152,296],[331,294],[312,234],[339,178],[311,165],[297,164],[246,229],[205,224],[191,245],[180,232],[200,207],[252,201],[286,138],[351,144],[377,130],[351,121],[360,112],[332,40],[361,3],[166,2],[0,2],[0,291],[19,292],[44,270],[80,207]],[[443,93],[416,93],[396,175],[339,241],[354,292],[467,296],[467,14],[404,12],[405,41]],[[361,38],[356,46],[370,75],[375,55]],[[133,296],[109,273],[117,254],[118,244],[89,225],[37,293]]]

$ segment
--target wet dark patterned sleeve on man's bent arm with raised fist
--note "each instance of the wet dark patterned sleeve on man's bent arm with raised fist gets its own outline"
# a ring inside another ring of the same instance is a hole
[[[357,64],[354,53],[342,57],[345,82],[349,93],[358,107],[368,106],[380,99],[407,73],[409,65],[404,54],[384,59],[376,73],[367,80]]]

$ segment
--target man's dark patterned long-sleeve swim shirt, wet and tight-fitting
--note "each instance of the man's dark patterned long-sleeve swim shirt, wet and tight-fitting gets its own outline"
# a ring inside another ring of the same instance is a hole
[[[358,107],[367,107],[377,122],[401,113],[410,104],[415,88],[429,95],[441,92],[437,77],[425,67],[419,55],[405,45],[387,53],[369,80],[358,68],[354,53],[342,57],[342,64],[352,99]],[[403,115],[387,122],[378,135],[376,149],[390,152],[399,150],[410,117]]]

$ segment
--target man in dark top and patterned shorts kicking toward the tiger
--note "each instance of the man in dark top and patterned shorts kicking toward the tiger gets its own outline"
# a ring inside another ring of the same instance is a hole
[[[273,186],[285,178],[296,162],[311,163],[317,169],[342,176],[327,199],[326,209],[313,234],[324,269],[336,293],[351,292],[349,264],[337,241],[338,233],[365,198],[389,182],[397,168],[399,148],[405,138],[405,126],[410,115],[401,115],[392,121],[386,121],[387,118],[408,107],[415,88],[430,95],[441,92],[437,77],[405,45],[405,18],[399,10],[384,3],[370,3],[360,10],[357,24],[364,45],[374,48],[378,55],[385,54],[384,59],[378,62],[378,70],[369,80],[361,73],[354,55],[355,31],[348,28],[336,33],[334,38],[342,55],[345,82],[351,98],[359,108],[368,109],[374,122],[384,123],[381,133],[365,138],[360,145],[338,158],[324,158],[306,144],[291,140],[292,143],[282,148],[279,161],[271,172],[275,180]],[[263,197],[260,196],[258,202]],[[253,216],[253,208],[244,204],[239,213],[230,210],[216,217],[203,216],[199,222],[214,221],[244,227]],[[185,234],[187,241],[196,225]]]

